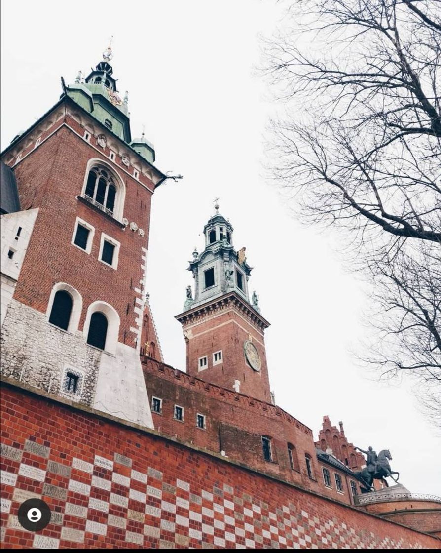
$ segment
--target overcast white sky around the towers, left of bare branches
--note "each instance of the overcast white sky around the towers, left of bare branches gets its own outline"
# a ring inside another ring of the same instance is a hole
[[[148,290],[165,361],[185,370],[182,311],[193,247],[220,197],[220,212],[246,246],[250,290],[271,323],[266,351],[276,403],[311,427],[343,420],[348,439],[379,452],[415,493],[441,495],[439,435],[406,384],[369,378],[360,349],[369,304],[345,274],[339,234],[302,227],[265,178],[266,124],[278,109],[255,75],[259,34],[282,8],[264,0],[149,0],[75,3],[3,0],[2,149],[58,100],[60,76],[89,71],[114,35],[112,66],[129,91],[132,135],[145,124],[156,165],[182,173],[155,192]],[[437,468],[438,467],[438,468]],[[392,482],[390,482],[392,484]]]

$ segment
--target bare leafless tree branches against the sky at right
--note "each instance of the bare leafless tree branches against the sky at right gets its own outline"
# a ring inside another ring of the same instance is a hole
[[[288,17],[265,48],[288,105],[274,178],[301,220],[349,230],[382,307],[370,361],[411,373],[441,415],[441,2],[304,0]]]

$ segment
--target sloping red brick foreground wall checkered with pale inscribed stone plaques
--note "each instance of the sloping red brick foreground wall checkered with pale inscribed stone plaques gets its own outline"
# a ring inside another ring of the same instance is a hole
[[[3,386],[2,542],[15,548],[435,548],[426,534],[87,408]],[[20,527],[43,498],[51,523]]]

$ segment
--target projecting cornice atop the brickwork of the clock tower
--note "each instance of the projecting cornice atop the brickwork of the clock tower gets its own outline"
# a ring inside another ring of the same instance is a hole
[[[245,316],[253,325],[260,328],[261,331],[264,331],[265,328],[270,326],[270,323],[264,319],[251,305],[240,298],[240,296],[234,291],[228,292],[223,296],[218,296],[212,300],[207,301],[202,305],[198,305],[193,309],[184,311],[179,315],[175,316],[175,319],[178,320],[181,325],[185,326],[191,322],[198,321],[206,317],[207,315],[213,314],[213,312],[220,312],[228,307],[234,307],[237,311]]]

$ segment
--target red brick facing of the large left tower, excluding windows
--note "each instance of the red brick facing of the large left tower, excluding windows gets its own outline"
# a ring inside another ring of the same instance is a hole
[[[67,117],[66,122],[78,134],[84,133],[75,120]],[[91,137],[91,141],[95,144],[95,137]],[[82,330],[87,307],[93,301],[103,300],[111,304],[120,317],[119,341],[134,346],[130,327],[136,327],[135,298],[140,298],[134,288],[140,288],[143,279],[141,248],[148,247],[151,192],[123,172],[117,157],[113,165],[126,187],[124,217],[144,229],[143,237],[130,228],[121,228],[101,212],[78,201],[87,161],[101,158],[112,163],[104,155],[108,152],[106,148],[100,154],[71,128],[62,126],[15,166],[22,207],[39,207],[40,210],[14,298],[45,312],[52,287],[57,282],[65,282],[76,288],[83,298],[79,330]],[[146,180],[144,176],[141,178]],[[153,184],[149,182],[149,185],[153,190]],[[95,227],[90,255],[71,245],[77,216]],[[117,270],[98,260],[101,232],[120,242]]]

